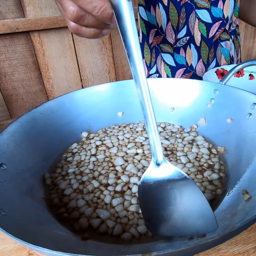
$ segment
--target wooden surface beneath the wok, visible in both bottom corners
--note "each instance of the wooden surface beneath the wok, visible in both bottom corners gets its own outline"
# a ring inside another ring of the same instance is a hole
[[[240,235],[195,256],[256,256],[256,224]],[[0,232],[0,256],[38,256]]]

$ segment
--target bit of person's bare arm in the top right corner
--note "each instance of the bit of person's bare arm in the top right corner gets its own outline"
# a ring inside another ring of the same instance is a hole
[[[239,19],[256,27],[256,1],[240,0]]]

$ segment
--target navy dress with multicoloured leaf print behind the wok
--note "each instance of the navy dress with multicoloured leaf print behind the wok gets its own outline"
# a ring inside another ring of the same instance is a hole
[[[147,77],[200,79],[241,62],[239,0],[139,0]]]

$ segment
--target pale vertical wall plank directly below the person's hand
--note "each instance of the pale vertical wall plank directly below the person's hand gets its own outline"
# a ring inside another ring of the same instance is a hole
[[[116,81],[111,37],[91,40],[73,36],[83,87]]]

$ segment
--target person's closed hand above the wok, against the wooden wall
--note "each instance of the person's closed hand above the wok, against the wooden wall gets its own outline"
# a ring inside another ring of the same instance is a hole
[[[116,27],[109,0],[56,0],[71,33],[86,38],[100,38]]]

